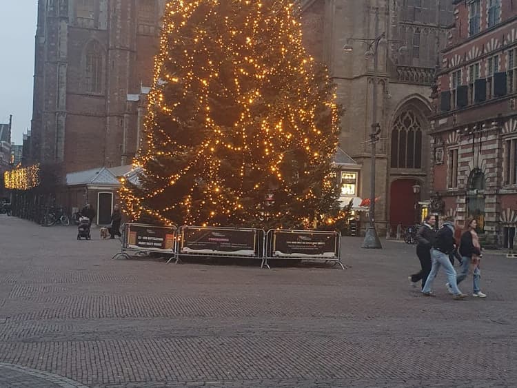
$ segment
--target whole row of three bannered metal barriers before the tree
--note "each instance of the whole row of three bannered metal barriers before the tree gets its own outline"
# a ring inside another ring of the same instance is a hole
[[[341,262],[341,234],[319,230],[154,226],[127,223],[123,226],[121,252],[114,258],[156,252],[170,256],[167,263],[182,256],[260,259],[261,268],[270,260],[293,259]]]

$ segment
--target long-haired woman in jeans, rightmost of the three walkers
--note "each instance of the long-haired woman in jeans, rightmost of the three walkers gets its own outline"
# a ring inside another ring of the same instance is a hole
[[[476,218],[468,218],[467,221],[465,221],[465,228],[463,229],[463,234],[461,234],[459,249],[462,263],[460,274],[456,276],[456,285],[460,284],[465,280],[465,278],[467,278],[467,274],[469,274],[469,269],[472,265],[474,269],[474,292],[472,296],[476,298],[486,298],[486,294],[483,294],[479,287],[479,279],[481,277],[481,271],[479,269],[480,258],[483,257],[483,254],[481,254],[481,245],[476,232],[477,226],[478,221],[476,221]],[[454,292],[450,283],[445,284],[445,286],[449,293]]]

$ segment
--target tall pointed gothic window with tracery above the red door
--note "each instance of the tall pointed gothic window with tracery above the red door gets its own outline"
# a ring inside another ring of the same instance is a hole
[[[410,110],[395,120],[391,165],[392,168],[422,168],[422,124]]]

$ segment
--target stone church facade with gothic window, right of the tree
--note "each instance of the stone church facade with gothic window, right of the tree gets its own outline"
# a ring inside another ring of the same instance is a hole
[[[432,182],[429,119],[434,113],[432,84],[438,52],[445,48],[454,21],[453,0],[302,0],[302,22],[307,49],[327,64],[337,85],[341,118],[341,148],[361,166],[356,195],[369,198],[372,127],[373,60],[367,47],[347,39],[388,41],[378,51],[377,117],[381,141],[376,148],[375,219],[381,233],[399,223],[414,225],[420,205],[429,198]],[[407,50],[399,50],[402,46]],[[404,52],[405,51],[405,52]],[[347,174],[343,174],[347,176]],[[418,183],[420,194],[414,193]]]

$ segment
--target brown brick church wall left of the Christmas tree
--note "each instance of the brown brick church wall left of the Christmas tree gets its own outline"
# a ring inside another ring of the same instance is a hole
[[[131,162],[165,0],[39,0],[30,162]]]

